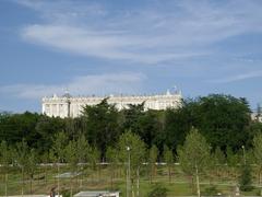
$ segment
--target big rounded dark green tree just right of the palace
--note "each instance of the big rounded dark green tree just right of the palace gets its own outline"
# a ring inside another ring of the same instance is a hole
[[[223,150],[229,146],[234,152],[246,144],[251,124],[250,108],[246,99],[211,94],[196,100],[195,127],[211,143]]]

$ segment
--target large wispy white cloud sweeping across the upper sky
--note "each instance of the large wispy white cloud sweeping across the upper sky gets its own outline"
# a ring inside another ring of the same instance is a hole
[[[210,45],[261,32],[260,1],[154,1],[110,9],[94,1],[19,1],[46,20],[22,37],[53,49],[116,60],[157,63],[204,56]],[[212,3],[213,2],[213,3]]]

